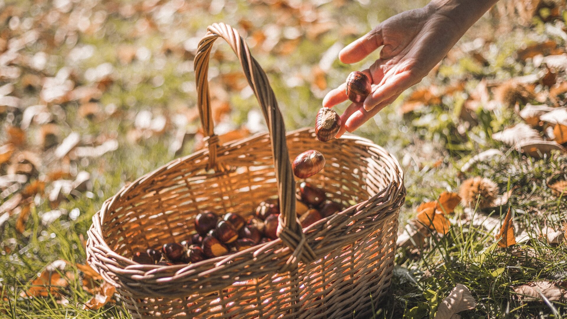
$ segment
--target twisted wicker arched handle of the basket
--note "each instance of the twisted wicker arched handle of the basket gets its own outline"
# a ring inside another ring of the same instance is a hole
[[[197,82],[197,104],[201,115],[201,124],[205,132],[205,141],[209,148],[209,168],[218,169],[217,146],[219,138],[215,135],[213,118],[211,116],[209,95],[209,58],[212,45],[218,37],[225,39],[236,53],[248,84],[254,91],[256,99],[262,108],[264,118],[268,123],[270,140],[272,141],[272,157],[276,169],[276,182],[280,196],[280,225],[278,237],[287,247],[293,250],[284,268],[296,265],[298,260],[305,263],[315,260],[316,256],[307,244],[301,225],[295,213],[295,179],[291,171],[289,152],[287,151],[284,119],[276,102],[276,96],[268,77],[255,58],[250,55],[248,45],[231,26],[224,23],[214,23],[207,28],[207,34],[199,42],[197,55],[194,60],[195,77]],[[282,219],[283,217],[283,219]]]

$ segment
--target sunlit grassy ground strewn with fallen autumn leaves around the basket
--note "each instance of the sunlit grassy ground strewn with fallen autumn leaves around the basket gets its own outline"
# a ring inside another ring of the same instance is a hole
[[[0,2],[0,316],[129,317],[84,265],[86,231],[126,183],[202,147],[192,60],[208,24],[240,30],[291,130],[373,62],[341,64],[344,45],[421,5]],[[567,316],[566,20],[551,1],[499,3],[357,131],[408,189],[376,318]],[[209,72],[222,141],[265,130],[229,50]]]

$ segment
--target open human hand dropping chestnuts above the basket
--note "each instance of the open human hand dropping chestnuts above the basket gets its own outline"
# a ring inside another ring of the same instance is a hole
[[[337,138],[345,131],[356,130],[405,89],[420,82],[472,25],[459,22],[447,13],[431,4],[401,12],[341,50],[341,62],[351,64],[383,45],[380,58],[362,71],[369,77],[373,92],[363,103],[352,103],[346,108],[341,115],[342,127]],[[323,99],[323,106],[333,107],[344,102],[347,99],[345,87],[343,83],[331,90]]]

